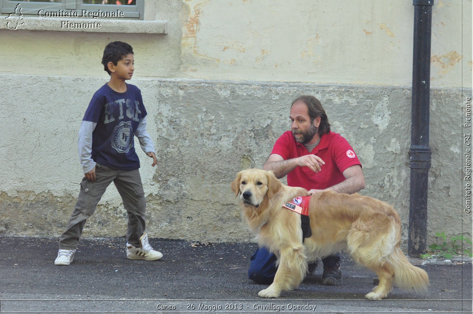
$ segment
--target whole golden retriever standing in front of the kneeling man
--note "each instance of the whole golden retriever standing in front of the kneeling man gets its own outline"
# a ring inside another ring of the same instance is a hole
[[[235,196],[241,193],[243,216],[258,234],[258,244],[278,257],[273,283],[258,296],[279,297],[282,290],[297,288],[308,262],[342,250],[379,277],[367,299],[386,297],[393,285],[427,291],[429,276],[401,251],[401,220],[389,204],[359,194],[315,193],[309,205],[312,236],[303,241],[300,215],[283,205],[307,196],[307,190],[287,186],[261,169],[240,171],[231,188]]]

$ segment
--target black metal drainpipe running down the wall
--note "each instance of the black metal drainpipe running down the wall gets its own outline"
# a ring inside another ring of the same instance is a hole
[[[427,192],[430,168],[429,93],[430,33],[434,0],[413,0],[414,49],[412,58],[412,121],[409,168],[411,195],[409,202],[408,254],[425,253],[427,238]]]

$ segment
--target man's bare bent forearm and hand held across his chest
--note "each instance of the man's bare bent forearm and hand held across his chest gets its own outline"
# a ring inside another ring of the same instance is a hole
[[[282,178],[286,174],[289,174],[297,166],[309,167],[314,172],[320,171],[320,165],[324,165],[325,162],[314,154],[309,154],[297,158],[284,160],[282,156],[278,154],[271,154],[263,165],[263,169],[274,172],[274,175],[278,179]],[[344,174],[344,172],[343,172]]]

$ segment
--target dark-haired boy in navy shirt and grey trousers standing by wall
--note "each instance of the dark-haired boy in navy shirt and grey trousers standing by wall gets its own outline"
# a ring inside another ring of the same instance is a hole
[[[141,91],[125,83],[134,71],[133,49],[123,42],[107,44],[102,64],[110,81],[96,91],[80,126],[79,156],[85,177],[67,229],[59,240],[55,265],[70,265],[82,228],[112,181],[128,213],[127,257],[155,261],[163,256],[149,245],[145,233],[146,199],[133,136],[140,140],[146,155],[153,158],[151,166],[157,165],[158,159],[146,131],[147,113]]]

